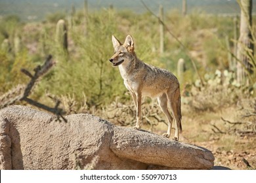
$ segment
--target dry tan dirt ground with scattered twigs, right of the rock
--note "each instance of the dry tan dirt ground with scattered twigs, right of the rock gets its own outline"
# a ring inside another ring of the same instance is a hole
[[[215,165],[256,169],[256,116],[241,118],[244,109],[237,105],[198,114],[184,110],[182,142],[211,150]]]

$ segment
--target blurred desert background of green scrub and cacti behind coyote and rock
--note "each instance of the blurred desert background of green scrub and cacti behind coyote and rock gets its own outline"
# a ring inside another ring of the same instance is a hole
[[[0,0],[0,108],[29,105],[54,113],[55,107],[63,116],[90,113],[133,126],[133,99],[108,61],[112,35],[123,42],[130,34],[138,58],[180,81],[180,141],[211,150],[215,165],[255,169],[255,5],[248,0]],[[53,65],[26,93],[49,55]],[[24,91],[32,101],[24,100]],[[142,129],[167,130],[157,101],[146,97]]]

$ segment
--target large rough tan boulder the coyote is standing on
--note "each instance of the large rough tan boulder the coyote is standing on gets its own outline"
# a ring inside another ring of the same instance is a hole
[[[91,114],[56,122],[24,106],[0,110],[0,169],[211,169],[213,154]],[[91,163],[93,162],[93,163]],[[88,168],[88,167],[87,167]]]

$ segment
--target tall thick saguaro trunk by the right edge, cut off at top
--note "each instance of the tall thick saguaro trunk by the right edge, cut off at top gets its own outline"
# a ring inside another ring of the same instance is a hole
[[[252,72],[250,57],[253,56],[253,42],[251,36],[251,10],[252,0],[239,0],[241,8],[240,16],[240,37],[238,39],[238,59],[237,80],[240,84],[245,84],[246,71]]]

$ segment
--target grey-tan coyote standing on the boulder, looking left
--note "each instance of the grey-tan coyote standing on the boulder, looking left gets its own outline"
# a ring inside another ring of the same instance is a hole
[[[173,140],[179,141],[179,131],[182,131],[181,92],[176,76],[165,69],[148,65],[137,58],[131,35],[127,35],[123,44],[112,35],[112,42],[114,56],[110,58],[110,62],[113,66],[119,67],[125,87],[131,93],[137,109],[137,122],[134,128],[141,128],[142,95],[152,98],[157,97],[160,108],[168,120],[167,133],[164,133],[163,136],[170,137],[174,118],[176,125]],[[172,115],[168,111],[168,105],[171,107]]]

